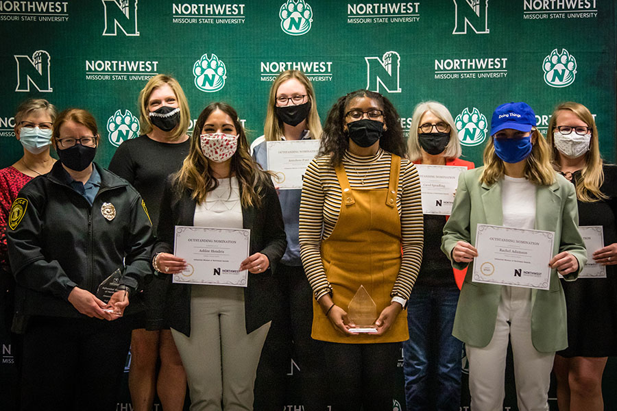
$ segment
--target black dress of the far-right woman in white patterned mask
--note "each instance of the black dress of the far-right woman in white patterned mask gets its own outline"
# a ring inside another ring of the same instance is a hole
[[[579,225],[602,225],[604,245],[617,242],[617,166],[604,169],[601,191],[609,197],[594,203],[579,203]],[[580,171],[572,174],[572,182]],[[589,250],[590,255],[596,250]],[[567,358],[617,355],[617,271],[606,266],[606,278],[561,279],[568,310],[568,348],[558,351]]]

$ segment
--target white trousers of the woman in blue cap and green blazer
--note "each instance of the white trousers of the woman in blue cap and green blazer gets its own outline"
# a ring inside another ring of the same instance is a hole
[[[465,346],[472,411],[502,411],[508,337],[514,358],[520,411],[548,411],[548,386],[555,352],[540,353],[531,343],[531,289],[503,286],[495,332],[483,348]]]

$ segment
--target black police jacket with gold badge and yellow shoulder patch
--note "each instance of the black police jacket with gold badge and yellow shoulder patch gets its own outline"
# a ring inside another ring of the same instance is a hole
[[[86,318],[69,303],[71,290],[77,286],[96,294],[99,284],[123,266],[121,283],[132,291],[125,313],[139,306],[136,291],[152,273],[152,223],[139,193],[94,165],[101,186],[92,206],[66,184],[59,161],[26,184],[14,201],[6,235],[17,316]]]

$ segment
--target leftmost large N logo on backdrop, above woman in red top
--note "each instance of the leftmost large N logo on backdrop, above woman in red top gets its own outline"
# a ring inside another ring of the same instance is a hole
[[[17,86],[15,91],[30,91],[30,84],[40,92],[52,92],[49,66],[51,58],[45,50],[37,50],[29,55],[14,55],[17,63]]]

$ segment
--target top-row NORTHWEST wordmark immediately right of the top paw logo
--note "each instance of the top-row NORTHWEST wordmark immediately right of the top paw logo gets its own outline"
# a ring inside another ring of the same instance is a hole
[[[415,23],[420,21],[420,2],[347,3],[347,23]]]

